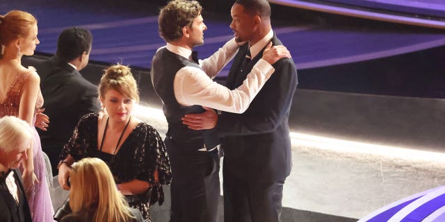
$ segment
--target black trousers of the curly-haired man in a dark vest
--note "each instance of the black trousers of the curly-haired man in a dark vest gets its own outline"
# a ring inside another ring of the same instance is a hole
[[[220,196],[218,150],[185,153],[169,139],[165,146],[172,168],[170,222],[216,222]]]

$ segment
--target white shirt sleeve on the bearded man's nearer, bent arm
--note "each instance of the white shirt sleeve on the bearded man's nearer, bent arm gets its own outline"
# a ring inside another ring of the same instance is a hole
[[[272,65],[260,59],[243,84],[230,90],[213,82],[202,69],[183,67],[177,72],[173,87],[181,105],[203,105],[225,112],[243,113],[274,71]]]

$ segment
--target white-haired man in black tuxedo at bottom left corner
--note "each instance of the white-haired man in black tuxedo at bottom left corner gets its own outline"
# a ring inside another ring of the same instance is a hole
[[[0,221],[32,221],[18,167],[28,157],[33,137],[26,121],[13,116],[0,118]]]

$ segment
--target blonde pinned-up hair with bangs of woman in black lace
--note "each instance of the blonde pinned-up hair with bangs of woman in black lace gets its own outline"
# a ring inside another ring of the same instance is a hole
[[[99,83],[99,95],[105,96],[108,89],[114,89],[130,99],[139,101],[139,91],[131,69],[125,65],[116,64],[104,70]]]

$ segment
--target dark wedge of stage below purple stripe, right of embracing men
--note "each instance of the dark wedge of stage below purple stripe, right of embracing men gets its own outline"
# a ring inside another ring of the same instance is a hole
[[[300,69],[300,89],[445,99],[445,46],[403,55]]]

